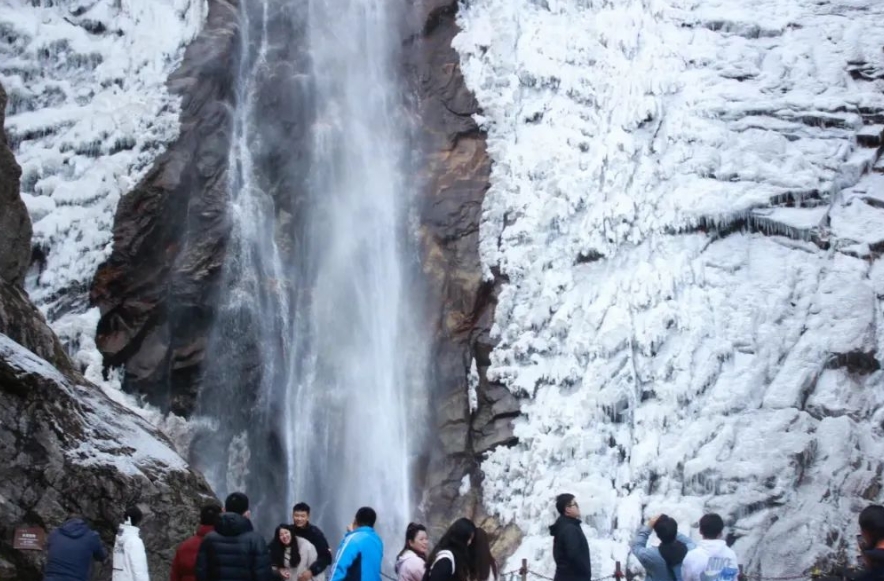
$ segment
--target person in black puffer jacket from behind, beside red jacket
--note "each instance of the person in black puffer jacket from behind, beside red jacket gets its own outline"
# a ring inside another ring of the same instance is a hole
[[[196,558],[198,581],[271,581],[270,553],[252,529],[249,498],[234,492],[224,501],[224,513],[207,534]]]

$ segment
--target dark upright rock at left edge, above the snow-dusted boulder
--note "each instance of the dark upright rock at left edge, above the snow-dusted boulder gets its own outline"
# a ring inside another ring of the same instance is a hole
[[[0,127],[5,123],[6,91],[0,87]],[[0,232],[6,245],[0,253],[0,279],[21,286],[31,261],[31,217],[19,196],[21,168],[0,132]]]

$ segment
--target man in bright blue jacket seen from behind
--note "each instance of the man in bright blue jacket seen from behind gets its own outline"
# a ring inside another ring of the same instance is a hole
[[[373,508],[356,511],[352,530],[338,547],[330,581],[381,581],[384,543],[374,531],[377,518]]]

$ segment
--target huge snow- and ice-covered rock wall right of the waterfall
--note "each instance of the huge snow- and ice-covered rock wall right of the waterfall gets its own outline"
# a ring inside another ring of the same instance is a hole
[[[749,571],[850,550],[881,500],[884,5],[469,0],[494,160],[489,379],[530,396],[486,507],[549,573],[558,492],[595,577],[659,511]],[[873,129],[867,129],[872,127]],[[871,136],[871,137],[870,137]],[[693,531],[697,536],[697,531]]]

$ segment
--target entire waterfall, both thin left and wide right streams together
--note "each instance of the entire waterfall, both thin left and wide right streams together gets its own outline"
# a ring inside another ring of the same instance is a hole
[[[220,494],[246,488],[262,529],[304,500],[334,542],[370,505],[390,544],[414,509],[427,332],[400,7],[241,6],[232,235],[199,398],[217,431],[194,454]]]

